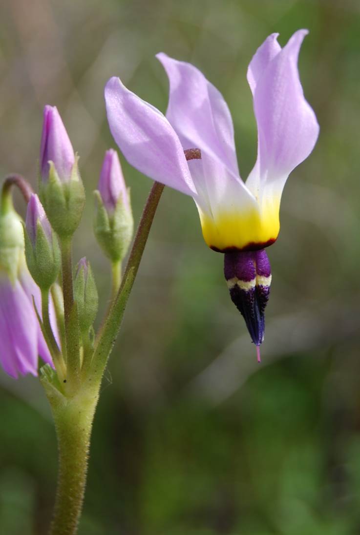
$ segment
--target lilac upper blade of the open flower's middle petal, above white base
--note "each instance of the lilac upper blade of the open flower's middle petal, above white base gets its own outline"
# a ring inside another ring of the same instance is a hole
[[[234,127],[227,103],[196,67],[179,62],[164,53],[156,56],[170,82],[166,113],[184,149],[197,147],[239,176]]]

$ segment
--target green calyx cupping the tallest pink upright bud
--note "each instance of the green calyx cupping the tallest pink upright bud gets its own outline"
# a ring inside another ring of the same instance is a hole
[[[62,182],[53,162],[49,179],[40,181],[39,196],[54,231],[60,238],[70,238],[79,226],[85,205],[85,190],[78,171],[78,157],[70,180]]]

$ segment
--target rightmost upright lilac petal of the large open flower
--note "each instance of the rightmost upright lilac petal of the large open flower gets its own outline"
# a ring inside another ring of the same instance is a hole
[[[250,85],[254,90],[254,111],[258,126],[258,158],[246,185],[257,195],[258,189],[272,184],[268,195],[279,197],[289,173],[312,151],[319,125],[306,102],[299,80],[297,58],[306,30],[296,32],[287,45],[269,60],[275,50],[271,40],[257,60],[253,59]],[[268,38],[269,39],[269,38]],[[268,41],[268,40],[267,40]],[[273,48],[271,48],[273,47]],[[259,75],[260,59],[267,66]],[[258,78],[257,78],[258,77]]]

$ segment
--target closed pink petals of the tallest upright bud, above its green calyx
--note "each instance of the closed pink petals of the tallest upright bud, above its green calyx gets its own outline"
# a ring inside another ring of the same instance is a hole
[[[49,162],[53,162],[62,182],[70,180],[75,162],[72,144],[56,106],[46,105],[40,146],[40,174],[43,182],[49,179]]]

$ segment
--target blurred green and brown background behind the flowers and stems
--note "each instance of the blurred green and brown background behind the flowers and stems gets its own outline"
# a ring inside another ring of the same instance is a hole
[[[299,69],[320,137],[290,176],[262,363],[202,241],[166,190],[97,410],[80,535],[360,533],[360,3],[356,0],[12,0],[0,5],[0,174],[36,183],[42,108],[57,105],[87,189],[76,258],[109,269],[92,234],[103,86],[119,75],[166,110],[158,51],[226,98],[239,166],[256,157],[246,68],[272,32],[309,28]],[[136,221],[151,187],[124,160]],[[19,211],[24,204],[17,197]],[[99,315],[99,318],[101,314]],[[0,341],[1,343],[1,341]],[[56,439],[38,380],[0,371],[0,531],[46,533]]]

